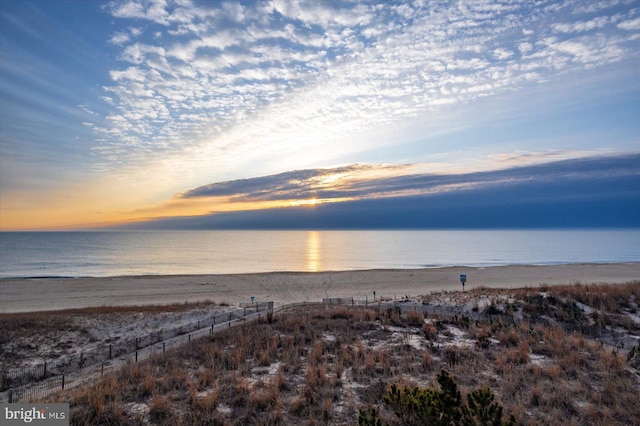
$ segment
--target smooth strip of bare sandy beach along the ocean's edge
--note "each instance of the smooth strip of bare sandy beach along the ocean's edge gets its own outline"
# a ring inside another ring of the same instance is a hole
[[[623,283],[640,280],[640,262],[553,266],[451,267],[316,273],[131,276],[109,278],[1,279],[0,313],[150,305],[211,300],[232,305],[319,301],[325,297],[373,298],[540,284]]]

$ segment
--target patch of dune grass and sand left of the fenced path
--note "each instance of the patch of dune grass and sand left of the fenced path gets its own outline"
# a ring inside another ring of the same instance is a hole
[[[225,308],[206,301],[0,314],[3,354],[0,370],[30,367],[44,361],[71,364],[79,360],[82,352],[106,357],[109,345],[114,345],[116,352],[126,350],[127,346],[135,345],[132,342],[138,337],[149,344],[160,338],[166,326],[170,330],[183,318],[199,319]]]

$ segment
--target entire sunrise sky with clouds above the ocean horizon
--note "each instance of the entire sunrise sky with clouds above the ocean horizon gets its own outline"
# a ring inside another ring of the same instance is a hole
[[[3,0],[0,230],[640,227],[640,1]]]

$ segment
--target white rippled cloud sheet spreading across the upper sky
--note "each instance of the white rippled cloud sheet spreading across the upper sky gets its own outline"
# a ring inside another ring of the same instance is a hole
[[[114,1],[114,18],[149,28],[111,38],[123,67],[104,88],[113,110],[96,126],[98,161],[172,156],[193,168],[203,157],[222,167],[229,156],[286,156],[637,56],[637,9],[572,8]]]

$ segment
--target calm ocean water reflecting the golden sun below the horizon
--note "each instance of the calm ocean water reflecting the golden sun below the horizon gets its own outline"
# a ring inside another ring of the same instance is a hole
[[[0,277],[640,261],[640,229],[0,233]]]

